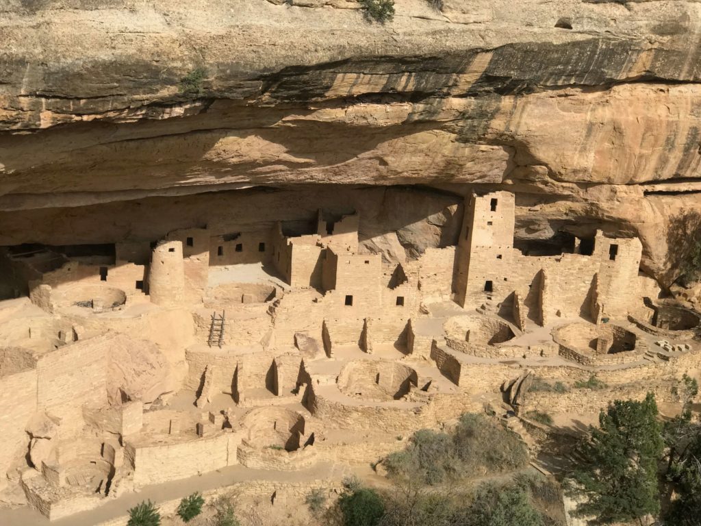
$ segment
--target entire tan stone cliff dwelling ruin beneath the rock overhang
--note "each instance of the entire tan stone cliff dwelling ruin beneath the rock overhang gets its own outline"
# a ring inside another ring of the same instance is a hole
[[[541,255],[515,248],[515,194],[448,208],[456,243],[402,262],[361,243],[355,210],[6,246],[4,490],[59,520],[226,466],[367,464],[398,433],[501,404],[515,364],[674,399],[660,379],[698,359],[700,318],[659,299],[639,239]]]

